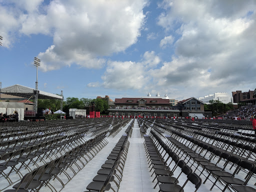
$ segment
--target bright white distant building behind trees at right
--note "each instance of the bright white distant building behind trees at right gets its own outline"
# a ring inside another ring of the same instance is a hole
[[[215,92],[214,94],[199,97],[198,100],[201,100],[205,104],[207,104],[210,100],[218,100],[226,104],[228,102],[232,102],[232,97],[227,92]]]

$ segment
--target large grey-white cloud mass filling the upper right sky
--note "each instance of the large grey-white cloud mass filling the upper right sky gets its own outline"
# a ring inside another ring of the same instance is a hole
[[[244,77],[256,71],[253,1],[164,0],[159,6],[164,11],[158,24],[179,38],[172,60],[152,71],[155,83],[193,86],[194,95],[202,89],[231,92],[239,83],[255,86],[255,78]]]

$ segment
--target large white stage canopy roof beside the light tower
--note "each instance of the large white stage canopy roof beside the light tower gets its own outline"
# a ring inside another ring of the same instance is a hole
[[[0,92],[4,94],[10,94],[15,96],[22,96],[25,98],[29,98],[30,96],[34,95],[35,89],[23,86],[20,84],[15,84],[12,86],[7,86],[4,88],[1,88]],[[57,94],[52,94],[49,92],[44,92],[42,90],[38,90],[38,98],[46,98],[46,99],[63,99],[62,96],[59,96]]]

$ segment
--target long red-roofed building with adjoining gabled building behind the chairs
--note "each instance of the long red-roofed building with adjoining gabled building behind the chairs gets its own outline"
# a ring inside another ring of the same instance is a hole
[[[142,97],[142,98],[116,98],[114,106],[108,108],[108,115],[115,116],[159,116],[159,117],[185,117],[193,114],[204,114],[203,102],[191,97],[177,102],[172,106],[168,98]]]

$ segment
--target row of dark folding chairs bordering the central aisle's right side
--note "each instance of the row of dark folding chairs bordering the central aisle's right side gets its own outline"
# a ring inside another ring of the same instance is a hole
[[[153,135],[153,138],[150,135]],[[147,154],[148,163],[151,166],[150,171],[153,169],[153,174],[155,174],[155,179],[157,179],[157,184],[159,184],[159,191],[169,191],[169,192],[178,192],[183,191],[186,183],[190,181],[195,186],[195,191],[199,188],[201,184],[201,178],[192,171],[192,169],[186,165],[183,160],[179,160],[179,157],[172,152],[172,150],[160,139],[160,137],[153,132],[150,131],[150,135],[144,135],[144,147]],[[164,160],[164,156],[167,155],[166,160]],[[171,159],[171,160],[169,160]],[[168,160],[170,161],[167,165]],[[174,165],[172,165],[174,162]],[[173,173],[176,168],[179,167],[180,170],[177,176],[173,176]],[[172,168],[170,170],[170,168]],[[184,181],[183,185],[179,185],[178,178],[180,175],[186,175],[187,179]],[[151,176],[152,176],[151,175]]]

